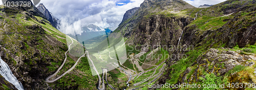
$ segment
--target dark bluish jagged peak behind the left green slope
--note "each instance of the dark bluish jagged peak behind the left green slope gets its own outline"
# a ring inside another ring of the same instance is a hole
[[[40,4],[39,6],[37,6],[37,9],[46,16],[47,20],[51,22],[54,28],[58,27],[58,24],[60,22],[59,19],[52,16],[51,12],[48,11],[44,4]]]

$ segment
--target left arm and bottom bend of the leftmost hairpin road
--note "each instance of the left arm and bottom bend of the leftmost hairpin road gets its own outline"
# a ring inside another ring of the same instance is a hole
[[[72,40],[72,38],[70,37],[70,39]],[[72,40],[72,43],[71,44],[73,44],[74,43],[74,41]],[[69,45],[69,50],[70,50],[70,46],[71,46],[71,44]],[[53,76],[55,76],[59,71],[60,71],[60,69],[63,67],[63,65],[65,64],[65,62],[67,61],[67,53],[69,52],[69,50],[65,53],[65,59],[64,59],[64,61],[63,61],[63,63],[61,64],[61,66],[59,67],[59,69],[53,74],[53,75],[50,75],[49,77],[47,77],[46,78],[46,82],[48,82],[48,83],[52,83],[52,82],[55,82],[56,80],[58,80],[58,78],[57,79],[54,79],[54,80],[49,80],[50,78],[52,78]],[[62,76],[64,76],[63,74],[60,76],[60,78],[62,77]]]

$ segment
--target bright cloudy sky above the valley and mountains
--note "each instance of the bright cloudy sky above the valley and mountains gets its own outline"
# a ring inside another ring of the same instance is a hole
[[[80,31],[86,24],[99,27],[112,27],[114,31],[122,21],[123,14],[132,8],[139,7],[144,0],[41,0],[40,3],[61,20],[60,31],[70,29]],[[226,0],[184,0],[198,7],[200,5],[218,4]],[[2,4],[2,2],[0,3]],[[38,4],[39,5],[39,4]],[[37,6],[38,6],[37,5]]]

